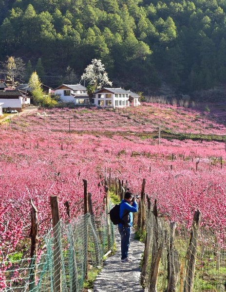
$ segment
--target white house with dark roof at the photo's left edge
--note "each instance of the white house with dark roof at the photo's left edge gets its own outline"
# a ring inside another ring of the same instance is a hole
[[[21,111],[22,107],[28,100],[27,94],[20,90],[4,90],[0,91],[0,103],[3,103],[2,108],[6,110]]]

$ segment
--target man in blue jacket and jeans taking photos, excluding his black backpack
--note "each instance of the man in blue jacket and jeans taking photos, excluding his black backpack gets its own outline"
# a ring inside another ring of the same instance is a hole
[[[138,211],[136,199],[132,193],[127,191],[124,199],[120,203],[119,217],[123,223],[118,224],[118,231],[121,235],[121,261],[132,261],[128,257],[128,250],[130,246],[130,235],[132,227],[132,213]]]

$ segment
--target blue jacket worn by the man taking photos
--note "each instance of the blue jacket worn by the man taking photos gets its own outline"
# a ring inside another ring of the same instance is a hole
[[[126,200],[122,200],[120,203],[119,217],[125,222],[124,224],[119,223],[118,226],[131,227],[132,226],[132,213],[138,211],[138,205],[136,201],[130,205]],[[127,215],[128,214],[128,215]],[[124,216],[125,215],[125,216]]]

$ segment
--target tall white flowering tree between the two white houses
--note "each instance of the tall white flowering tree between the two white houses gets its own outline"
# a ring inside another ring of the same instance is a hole
[[[105,71],[104,64],[102,64],[101,60],[93,59],[91,64],[86,67],[81,78],[88,82],[87,92],[90,103],[92,103],[93,94],[96,89],[100,89],[106,85],[112,86],[112,82],[109,80],[108,73]]]

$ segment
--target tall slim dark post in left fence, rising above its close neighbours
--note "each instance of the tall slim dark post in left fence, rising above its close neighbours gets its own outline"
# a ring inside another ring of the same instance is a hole
[[[89,207],[88,207],[88,193],[87,193],[87,181],[82,180],[84,184],[84,262],[86,265],[86,278],[88,276],[88,224],[86,220],[86,214],[89,212]]]

